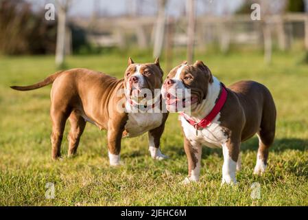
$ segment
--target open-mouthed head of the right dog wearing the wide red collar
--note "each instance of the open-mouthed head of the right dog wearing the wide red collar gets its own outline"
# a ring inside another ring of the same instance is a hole
[[[206,98],[209,83],[213,83],[213,76],[209,67],[202,61],[188,65],[184,61],[169,72],[161,93],[169,111],[180,111],[181,107],[193,109]]]

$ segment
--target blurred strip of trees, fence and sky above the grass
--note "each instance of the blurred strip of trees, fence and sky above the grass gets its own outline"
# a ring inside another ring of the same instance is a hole
[[[0,0],[0,54],[65,56],[147,52],[169,70],[177,51],[191,61],[195,50],[222,54],[239,50],[308,50],[305,0]],[[54,20],[45,19],[46,5]],[[261,19],[250,14],[261,5]],[[305,61],[304,57],[304,61]]]

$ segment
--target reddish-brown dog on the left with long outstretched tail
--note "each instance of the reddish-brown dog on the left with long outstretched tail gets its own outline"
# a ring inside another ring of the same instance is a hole
[[[146,106],[149,98],[143,102],[143,107],[146,108],[143,109],[144,111],[130,111],[132,107],[136,105],[138,107],[138,100],[142,100],[139,97],[139,91],[147,89],[152,95],[154,89],[161,88],[163,71],[158,58],[154,63],[144,64],[135,64],[129,58],[124,76],[124,79],[118,80],[90,69],[70,69],[57,72],[35,85],[14,86],[12,89],[25,91],[53,84],[50,109],[52,159],[60,157],[60,146],[67,118],[71,123],[69,156],[76,153],[80,136],[88,121],[101,130],[108,130],[110,165],[119,165],[121,137],[136,137],[147,131],[152,157],[165,159],[166,156],[159,150],[159,145],[167,113],[151,111],[152,105]],[[122,93],[121,90],[123,90]],[[158,107],[160,102],[161,99],[158,98],[156,102]]]

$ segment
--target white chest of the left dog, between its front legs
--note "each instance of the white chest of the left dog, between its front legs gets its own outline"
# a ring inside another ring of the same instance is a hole
[[[163,113],[128,113],[126,137],[136,137],[157,128],[163,122]]]

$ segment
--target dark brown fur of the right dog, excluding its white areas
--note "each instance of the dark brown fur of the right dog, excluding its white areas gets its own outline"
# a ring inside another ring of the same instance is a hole
[[[182,64],[187,64],[187,61]],[[180,65],[171,70],[163,87],[168,86],[167,81],[174,78],[179,67]],[[185,79],[186,76],[189,76],[189,79]],[[211,71],[202,61],[196,61],[194,65],[187,65],[180,73],[180,79],[185,87],[191,89],[192,94],[198,95],[198,103],[206,98],[208,85],[213,83]],[[241,142],[258,133],[260,137],[259,155],[266,164],[268,149],[274,141],[276,126],[276,107],[270,91],[257,82],[240,81],[230,85],[227,88],[227,93],[226,103],[220,111],[220,126],[228,137],[226,146],[230,157],[237,162]],[[190,176],[198,159],[196,159],[196,153],[194,153],[187,137],[184,138],[184,148]]]

